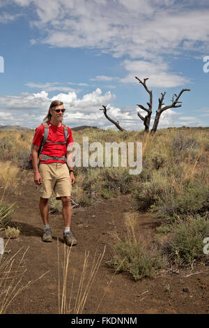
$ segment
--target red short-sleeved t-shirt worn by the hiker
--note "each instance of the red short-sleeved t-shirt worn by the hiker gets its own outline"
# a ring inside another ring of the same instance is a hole
[[[65,134],[64,134],[64,128],[63,124],[61,126],[54,126],[52,123],[47,121],[47,124],[49,125],[49,135],[47,137],[47,140],[54,141],[54,142],[65,142]],[[44,126],[40,124],[38,128],[36,128],[36,132],[33,138],[33,144],[36,144],[38,147],[40,147],[40,144],[42,142],[42,137],[44,135]],[[72,139],[72,131],[70,128],[68,128],[68,139],[66,144],[54,144],[52,142],[45,142],[44,147],[42,149],[41,154],[46,154],[48,156],[57,156],[57,157],[63,157],[63,155],[66,154],[68,145],[74,144]],[[63,161],[54,161],[52,159],[48,159],[47,161],[40,161],[40,163],[66,163]]]

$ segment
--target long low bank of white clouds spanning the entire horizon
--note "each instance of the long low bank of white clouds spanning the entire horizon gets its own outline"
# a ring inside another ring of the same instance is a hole
[[[110,103],[114,98],[114,94],[111,94],[110,91],[102,94],[99,88],[90,94],[85,94],[82,98],[78,98],[75,92],[56,94],[53,98],[49,98],[47,91],[44,90],[33,94],[22,93],[17,96],[0,96],[1,124],[35,128],[40,125],[42,119],[46,116],[52,100],[58,99],[63,101],[65,105],[64,121],[70,127],[88,125],[115,128],[104,117],[103,112],[99,110],[105,104],[107,105],[109,117],[119,121],[123,128],[127,130],[144,130],[143,121],[137,116],[139,108],[112,106]],[[143,110],[139,110],[139,112],[144,116],[145,112]],[[153,110],[150,128],[153,126],[154,119],[155,111]],[[204,126],[205,124],[200,118],[182,116],[181,113],[171,109],[164,111],[160,117],[159,128],[183,125]]]

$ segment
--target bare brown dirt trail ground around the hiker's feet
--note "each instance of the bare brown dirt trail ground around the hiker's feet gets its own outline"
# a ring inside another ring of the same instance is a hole
[[[29,246],[24,256],[26,273],[22,283],[28,283],[47,272],[40,280],[17,295],[6,313],[59,313],[58,306],[58,244],[60,262],[63,261],[62,241],[63,219],[61,215],[51,214],[52,243],[42,241],[42,221],[38,209],[39,195],[33,184],[33,173],[26,172],[27,183],[23,184],[21,195],[8,193],[6,202],[16,201],[13,212],[13,225],[20,229],[17,239],[10,239],[5,257],[20,254]],[[23,174],[24,176],[24,174]],[[198,264],[186,269],[161,270],[156,278],[144,278],[135,282],[127,274],[114,274],[107,262],[111,258],[114,236],[125,234],[125,211],[131,206],[131,195],[121,195],[110,200],[100,200],[91,207],[72,209],[71,230],[78,244],[70,253],[68,276],[69,295],[72,304],[77,297],[79,278],[84,264],[84,254],[89,252],[88,269],[95,256],[104,250],[104,258],[98,274],[91,286],[83,313],[208,313],[208,268]],[[148,214],[139,213],[139,230],[144,244],[152,245],[157,221]],[[1,237],[3,234],[1,232]],[[58,240],[58,242],[57,242]],[[68,247],[68,246],[67,246]],[[72,273],[75,281],[70,292]],[[88,274],[87,274],[88,278]],[[99,308],[98,308],[99,306]]]

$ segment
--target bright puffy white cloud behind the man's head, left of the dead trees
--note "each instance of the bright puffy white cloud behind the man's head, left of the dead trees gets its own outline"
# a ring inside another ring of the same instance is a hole
[[[63,101],[66,112],[65,121],[75,126],[75,122],[88,121],[87,125],[93,125],[97,119],[102,117],[99,108],[102,104],[111,102],[115,98],[110,91],[102,94],[98,88],[90,94],[78,98],[75,92],[68,94],[56,94],[49,98],[47,91],[38,93],[22,93],[17,96],[0,96],[0,113],[2,124],[18,124],[22,126],[36,127],[48,112],[49,105],[53,100]]]

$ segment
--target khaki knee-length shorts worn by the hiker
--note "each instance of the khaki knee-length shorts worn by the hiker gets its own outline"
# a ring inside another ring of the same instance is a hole
[[[68,166],[63,163],[40,163],[38,168],[42,177],[40,197],[50,198],[54,193],[57,200],[70,196],[72,184]]]

